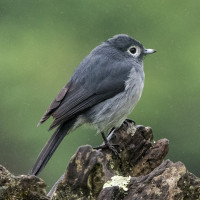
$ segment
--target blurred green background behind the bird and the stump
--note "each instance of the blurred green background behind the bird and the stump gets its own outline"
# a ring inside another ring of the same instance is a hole
[[[158,52],[144,61],[142,98],[130,118],[168,138],[172,161],[200,176],[200,1],[0,0],[0,164],[26,174],[52,132],[36,128],[80,61],[126,33]],[[50,187],[95,130],[70,134],[41,173]]]

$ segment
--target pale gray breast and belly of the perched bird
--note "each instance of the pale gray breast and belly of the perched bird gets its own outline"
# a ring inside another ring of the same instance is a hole
[[[125,84],[123,92],[90,109],[81,117],[82,120],[84,118],[84,122],[91,123],[99,132],[119,127],[141,97],[144,86],[143,69],[136,71],[132,68]]]

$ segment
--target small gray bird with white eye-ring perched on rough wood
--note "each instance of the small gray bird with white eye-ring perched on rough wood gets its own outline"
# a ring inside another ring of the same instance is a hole
[[[86,56],[38,123],[50,116],[55,132],[40,152],[30,175],[38,175],[63,138],[83,124],[101,133],[118,128],[139,101],[144,87],[144,56],[156,52],[127,34],[102,42]],[[111,148],[112,149],[112,148]]]

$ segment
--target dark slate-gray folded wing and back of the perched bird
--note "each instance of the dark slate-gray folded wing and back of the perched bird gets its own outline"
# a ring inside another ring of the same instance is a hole
[[[87,56],[69,83],[52,102],[40,123],[50,115],[55,119],[50,130],[78,116],[92,106],[124,91],[130,63],[98,55]]]

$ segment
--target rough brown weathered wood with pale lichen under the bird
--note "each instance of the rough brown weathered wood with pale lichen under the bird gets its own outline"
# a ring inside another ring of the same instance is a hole
[[[200,179],[181,162],[163,161],[169,141],[126,121],[108,136],[119,152],[81,146],[49,194],[42,179],[0,167],[0,200],[200,199]]]

